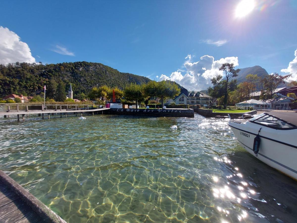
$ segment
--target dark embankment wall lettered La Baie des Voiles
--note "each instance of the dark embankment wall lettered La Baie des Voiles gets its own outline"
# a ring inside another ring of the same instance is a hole
[[[194,117],[193,109],[115,109],[103,111],[103,114],[145,115],[161,117]]]

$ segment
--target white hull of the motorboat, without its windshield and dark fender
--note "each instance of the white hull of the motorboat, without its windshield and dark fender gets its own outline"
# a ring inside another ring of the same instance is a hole
[[[229,121],[228,125],[240,145],[255,158],[297,180],[297,146],[295,145],[297,142],[297,129],[276,130],[254,123],[236,123],[232,121]],[[253,151],[253,144],[260,128],[259,136],[261,141],[259,153],[256,156]],[[295,144],[292,144],[294,141]]]

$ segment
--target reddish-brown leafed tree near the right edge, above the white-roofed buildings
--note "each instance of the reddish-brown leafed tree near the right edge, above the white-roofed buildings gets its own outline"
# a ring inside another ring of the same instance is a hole
[[[262,92],[262,97],[263,99],[269,99],[272,98],[272,95],[275,91],[275,89],[277,89],[277,86],[279,84],[285,84],[285,80],[289,77],[291,77],[292,74],[288,74],[286,76],[282,76],[279,75],[278,73],[273,73],[268,75],[267,77],[265,77],[263,79],[263,92]]]

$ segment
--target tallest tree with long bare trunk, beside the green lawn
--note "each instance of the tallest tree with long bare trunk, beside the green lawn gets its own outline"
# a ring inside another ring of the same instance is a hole
[[[224,73],[224,76],[222,78],[222,80],[224,80],[224,109],[227,108],[227,102],[228,102],[228,92],[230,92],[230,84],[229,84],[229,80],[232,77],[237,77],[238,76],[238,72],[240,71],[240,69],[234,69],[234,64],[233,63],[224,63],[222,64],[222,66],[219,68],[219,70],[222,70]],[[234,82],[232,83],[234,84]]]

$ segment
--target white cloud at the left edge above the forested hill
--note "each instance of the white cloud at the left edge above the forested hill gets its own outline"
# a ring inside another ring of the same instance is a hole
[[[27,62],[34,63],[27,43],[20,41],[20,37],[8,28],[0,26],[0,64]]]

